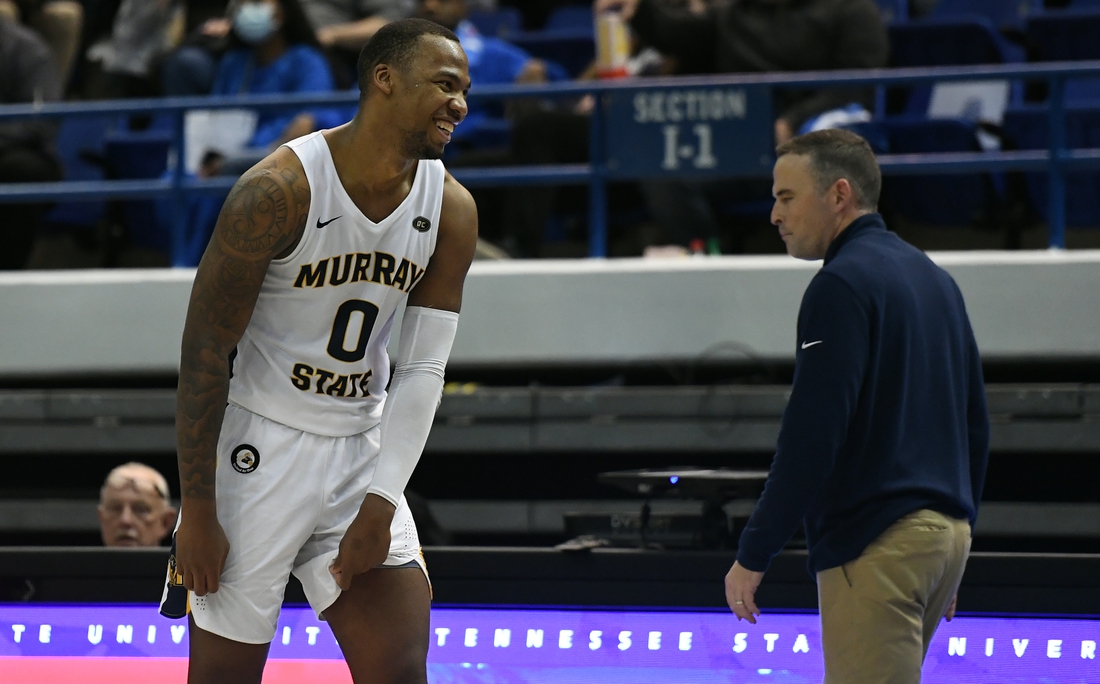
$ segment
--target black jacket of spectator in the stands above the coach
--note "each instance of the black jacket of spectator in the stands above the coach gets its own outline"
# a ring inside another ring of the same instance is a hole
[[[744,74],[884,67],[886,26],[872,0],[732,0],[706,15],[641,0],[631,26],[690,71]],[[870,109],[873,90],[787,90],[778,118],[798,131],[817,114],[859,102]]]

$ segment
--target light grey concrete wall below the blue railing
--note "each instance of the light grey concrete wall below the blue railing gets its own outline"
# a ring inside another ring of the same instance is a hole
[[[1100,251],[950,252],[987,360],[1100,358]],[[820,263],[480,262],[452,365],[791,361]],[[174,373],[194,272],[0,274],[0,376]]]

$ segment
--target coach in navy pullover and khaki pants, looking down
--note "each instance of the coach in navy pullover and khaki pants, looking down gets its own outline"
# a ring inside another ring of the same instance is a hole
[[[805,525],[826,684],[921,681],[970,551],[989,456],[981,363],[955,282],[876,213],[870,146],[840,130],[780,145],[771,221],[824,258],[802,299],[794,383],[763,495],[726,575],[754,592]]]

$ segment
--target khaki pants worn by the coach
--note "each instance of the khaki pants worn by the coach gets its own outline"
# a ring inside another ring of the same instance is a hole
[[[919,683],[969,553],[966,520],[919,510],[817,573],[825,684]]]

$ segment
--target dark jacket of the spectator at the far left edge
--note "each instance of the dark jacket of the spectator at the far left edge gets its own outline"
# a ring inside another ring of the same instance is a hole
[[[0,104],[59,100],[57,65],[46,43],[30,29],[0,19]],[[0,123],[0,151],[10,146],[50,150],[56,128],[43,120]]]

